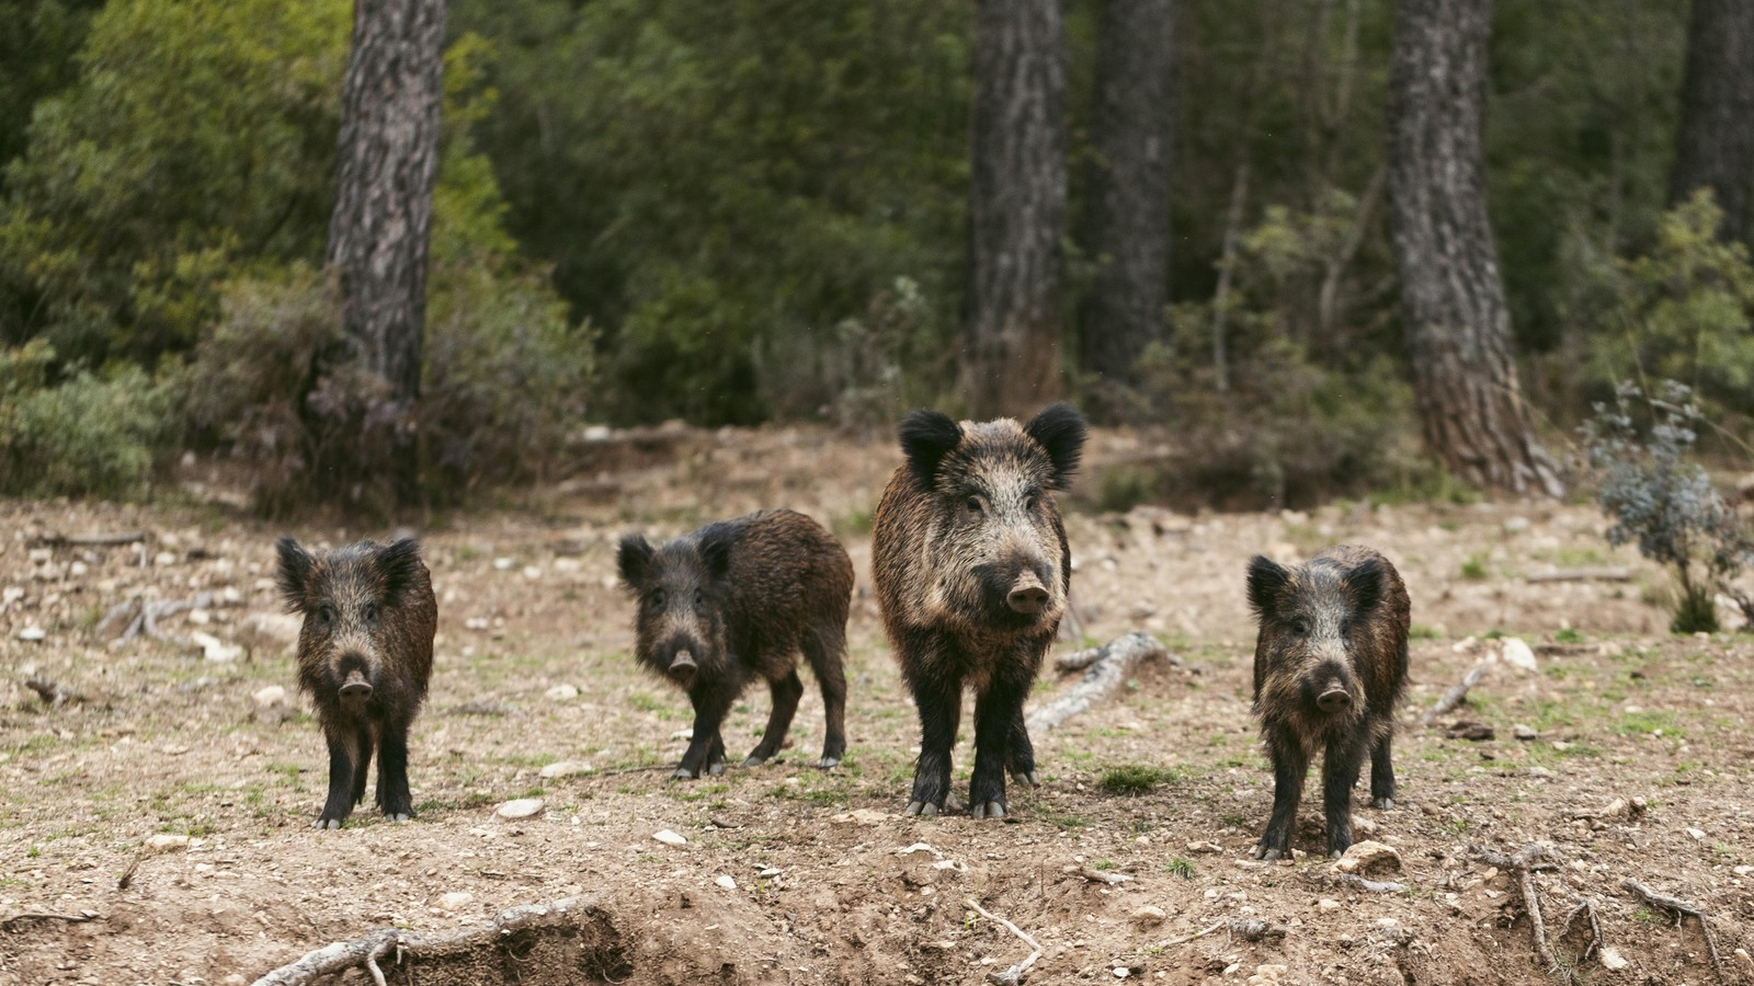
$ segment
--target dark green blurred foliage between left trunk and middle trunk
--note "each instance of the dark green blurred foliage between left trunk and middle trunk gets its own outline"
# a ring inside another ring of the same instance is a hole
[[[966,5],[461,0],[451,16],[496,40],[482,147],[519,240],[612,328],[621,416],[814,414],[775,367],[831,349],[830,326],[868,318],[896,277],[931,305],[923,351],[942,351]]]

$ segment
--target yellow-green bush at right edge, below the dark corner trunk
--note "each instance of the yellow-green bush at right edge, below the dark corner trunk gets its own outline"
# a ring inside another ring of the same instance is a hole
[[[1636,372],[1687,384],[1701,398],[1754,414],[1754,263],[1747,244],[1722,242],[1710,189],[1663,214],[1645,256],[1619,261],[1596,374]]]

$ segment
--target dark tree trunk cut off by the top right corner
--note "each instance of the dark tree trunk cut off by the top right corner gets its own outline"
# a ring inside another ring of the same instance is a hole
[[[1724,211],[1719,237],[1754,233],[1754,4],[1693,0],[1680,132],[1668,204],[1710,188]]]

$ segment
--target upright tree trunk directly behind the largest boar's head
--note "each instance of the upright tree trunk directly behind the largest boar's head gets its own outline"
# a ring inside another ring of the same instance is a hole
[[[961,389],[977,418],[1061,395],[1066,39],[1059,0],[980,0]]]

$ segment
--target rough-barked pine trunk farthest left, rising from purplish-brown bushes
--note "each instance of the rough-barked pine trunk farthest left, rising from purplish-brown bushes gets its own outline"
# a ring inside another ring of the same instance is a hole
[[[444,0],[354,0],[326,251],[347,342],[332,370],[346,365],[377,384],[377,405],[361,409],[361,426],[395,423],[391,463],[351,465],[388,467],[403,505],[417,498],[419,479],[412,409],[421,391],[444,21]]]

